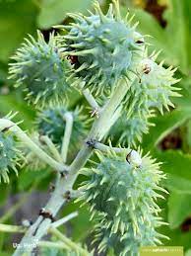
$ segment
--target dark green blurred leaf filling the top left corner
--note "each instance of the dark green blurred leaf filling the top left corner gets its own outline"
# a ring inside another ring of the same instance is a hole
[[[36,29],[37,8],[32,0],[0,1],[0,60],[7,62],[13,51]]]

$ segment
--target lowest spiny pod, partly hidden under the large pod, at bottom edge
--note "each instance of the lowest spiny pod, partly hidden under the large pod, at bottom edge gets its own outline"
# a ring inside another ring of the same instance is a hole
[[[116,256],[137,256],[139,255],[140,246],[154,246],[162,244],[160,238],[168,239],[165,235],[156,231],[159,225],[165,224],[161,222],[160,217],[150,214],[152,225],[148,223],[140,223],[140,232],[135,236],[131,228],[121,236],[120,232],[112,233],[110,228],[104,228],[100,222],[96,225],[96,239],[94,242],[98,243],[98,251],[105,251],[105,249],[113,249]],[[98,220],[98,219],[97,219]]]

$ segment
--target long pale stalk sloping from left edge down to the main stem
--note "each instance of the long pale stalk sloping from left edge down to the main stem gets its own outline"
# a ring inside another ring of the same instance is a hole
[[[21,128],[19,128],[15,123],[7,119],[0,119],[0,130],[9,129],[17,137],[24,142],[31,150],[39,157],[42,161],[50,165],[54,170],[62,172],[67,169],[67,166],[55,161],[52,157],[46,154],[38,145],[36,145],[32,139],[24,132]]]

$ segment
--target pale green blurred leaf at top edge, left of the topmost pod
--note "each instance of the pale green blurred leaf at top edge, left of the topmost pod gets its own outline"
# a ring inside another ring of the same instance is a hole
[[[92,0],[42,0],[37,23],[40,29],[48,29],[61,23],[68,12],[84,11]]]

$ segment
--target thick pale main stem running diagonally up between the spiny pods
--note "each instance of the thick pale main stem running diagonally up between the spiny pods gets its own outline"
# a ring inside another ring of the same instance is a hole
[[[127,86],[124,81],[120,82],[116,89],[113,91],[113,94],[109,101],[105,104],[100,112],[99,118],[93,124],[91,131],[86,139],[86,141],[90,140],[101,140],[102,137],[106,134],[108,128],[108,124],[112,120],[114,113],[116,112],[117,108],[121,104],[122,100],[126,96],[129,87]],[[68,175],[65,178],[60,178],[57,181],[55,186],[55,191],[51,195],[45,210],[52,213],[53,216],[58,213],[60,208],[67,203],[67,198],[65,194],[68,191],[72,191],[74,182],[78,176],[79,170],[86,164],[87,160],[90,158],[94,148],[90,147],[89,144],[85,141],[84,145],[82,145],[81,150],[79,151],[78,155],[72,162],[69,167]],[[38,216],[36,221],[33,223],[31,228],[27,231],[26,235],[23,237],[20,247],[14,253],[14,256],[21,256],[25,253],[25,248],[23,244],[28,243],[32,244],[32,242],[36,239],[40,239],[44,234],[47,233],[48,228],[51,225],[50,218],[43,218],[41,215]],[[28,248],[29,249],[29,248]],[[30,251],[28,250],[29,255]]]

